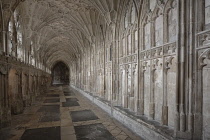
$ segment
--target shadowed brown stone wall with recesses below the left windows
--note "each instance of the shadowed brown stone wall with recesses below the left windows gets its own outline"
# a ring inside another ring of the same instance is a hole
[[[11,115],[22,113],[45,94],[50,83],[50,74],[0,55],[0,128],[10,125]]]

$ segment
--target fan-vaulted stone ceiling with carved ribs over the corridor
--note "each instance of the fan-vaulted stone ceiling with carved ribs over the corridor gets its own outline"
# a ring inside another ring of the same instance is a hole
[[[95,44],[101,27],[116,20],[120,0],[3,0],[4,14],[20,15],[24,46],[51,67],[56,61],[68,65]],[[8,21],[4,23],[8,25]],[[5,27],[7,28],[7,27]]]

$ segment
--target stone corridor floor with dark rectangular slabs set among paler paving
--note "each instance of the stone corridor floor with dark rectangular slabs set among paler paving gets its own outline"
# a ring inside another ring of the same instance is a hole
[[[13,116],[0,140],[141,140],[68,86],[52,87]]]

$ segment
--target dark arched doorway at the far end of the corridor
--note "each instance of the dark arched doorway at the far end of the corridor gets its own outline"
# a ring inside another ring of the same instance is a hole
[[[52,84],[69,84],[69,68],[63,62],[57,62],[52,69]]]

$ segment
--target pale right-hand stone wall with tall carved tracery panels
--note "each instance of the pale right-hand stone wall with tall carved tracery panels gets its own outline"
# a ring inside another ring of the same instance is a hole
[[[167,127],[173,138],[208,139],[209,2],[136,3],[120,3],[73,64],[71,84]]]

